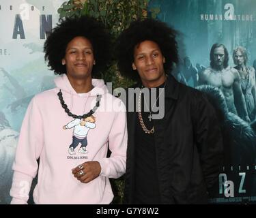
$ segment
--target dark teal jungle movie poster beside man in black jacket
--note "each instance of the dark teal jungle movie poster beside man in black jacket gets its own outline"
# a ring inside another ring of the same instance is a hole
[[[249,89],[251,84],[255,85],[255,69],[252,66],[256,65],[256,1],[156,0],[150,1],[150,7],[159,7],[158,19],[167,22],[178,31],[180,64],[177,65],[173,74],[180,82],[190,87],[198,87],[205,69],[209,72],[210,50],[213,44],[223,44],[227,48],[229,66],[225,72],[225,78],[222,77],[219,81],[211,80],[212,74],[218,74],[212,71],[206,74],[206,79],[212,86],[198,88],[212,96],[211,101],[221,119],[224,140],[223,168],[218,181],[210,190],[210,202],[255,204],[256,108]],[[251,76],[244,78],[244,81],[241,79],[240,85],[243,85],[242,94],[248,111],[253,110],[250,123],[245,122],[240,115],[241,105],[236,103],[241,96],[240,93],[236,93],[237,87],[233,86],[233,73],[230,73],[236,66],[233,62],[233,50],[238,46],[244,47],[248,54],[246,69]],[[238,115],[230,110],[224,113],[228,110],[225,100],[230,95],[225,97],[222,95],[220,84],[225,87],[224,91],[228,93],[233,91]],[[248,104],[253,108],[248,108]]]

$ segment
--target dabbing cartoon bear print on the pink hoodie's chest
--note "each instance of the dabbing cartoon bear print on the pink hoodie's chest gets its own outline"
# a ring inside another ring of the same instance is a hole
[[[89,129],[94,129],[96,127],[95,122],[96,122],[96,117],[91,115],[85,119],[74,119],[67,125],[63,126],[63,129],[74,128],[73,136],[72,136],[72,144],[70,144],[70,147],[68,149],[68,153],[70,153],[70,155],[76,154],[74,149],[76,149],[76,146],[78,146],[79,143],[81,143],[81,147],[79,148],[79,153],[81,154],[88,153],[88,151],[86,150],[87,134]]]

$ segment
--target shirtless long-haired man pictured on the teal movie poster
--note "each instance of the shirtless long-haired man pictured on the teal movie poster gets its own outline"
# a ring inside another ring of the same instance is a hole
[[[229,67],[228,62],[227,48],[223,44],[214,44],[210,51],[210,67],[199,74],[199,84],[209,84],[221,89],[229,112],[239,114],[244,121],[250,122],[239,73],[237,69]]]

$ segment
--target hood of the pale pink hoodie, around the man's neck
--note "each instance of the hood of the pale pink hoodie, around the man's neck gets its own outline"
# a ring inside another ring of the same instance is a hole
[[[70,93],[71,95],[78,95],[78,93],[76,93],[76,91],[70,84],[70,80],[68,80],[68,76],[66,74],[58,76],[57,78],[55,78],[54,82],[56,84],[56,87],[58,89],[61,89],[62,92],[64,91],[66,93]],[[85,95],[96,96],[109,93],[109,91],[106,89],[106,85],[104,84],[104,80],[92,79],[91,83],[94,86],[94,89],[91,89],[91,91],[85,93]]]

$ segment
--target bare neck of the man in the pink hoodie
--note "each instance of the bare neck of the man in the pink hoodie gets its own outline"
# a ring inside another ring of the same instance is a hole
[[[87,93],[93,89],[93,85],[91,84],[91,77],[88,78],[72,78],[68,76],[68,80],[70,80],[70,84],[76,93]]]

